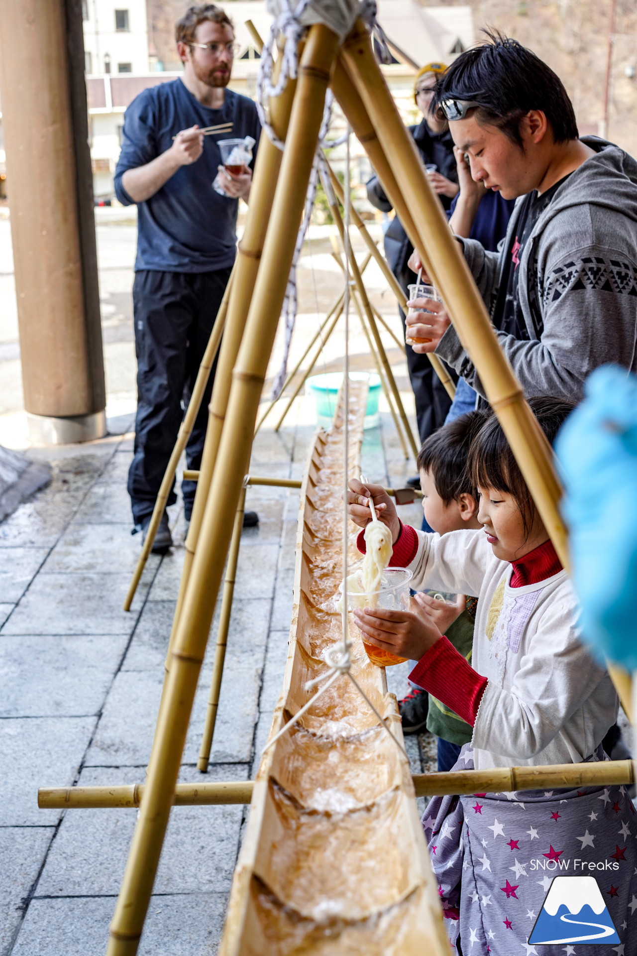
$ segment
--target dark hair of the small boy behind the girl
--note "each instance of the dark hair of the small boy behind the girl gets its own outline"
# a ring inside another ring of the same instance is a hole
[[[416,464],[424,471],[431,471],[435,490],[445,505],[457,501],[461,494],[472,494],[478,501],[467,460],[471,443],[484,421],[484,412],[467,412],[438,428],[420,448]]]

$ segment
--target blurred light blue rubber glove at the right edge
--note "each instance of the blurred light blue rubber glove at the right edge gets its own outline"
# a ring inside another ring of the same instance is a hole
[[[637,379],[605,365],[556,442],[583,639],[637,668]]]

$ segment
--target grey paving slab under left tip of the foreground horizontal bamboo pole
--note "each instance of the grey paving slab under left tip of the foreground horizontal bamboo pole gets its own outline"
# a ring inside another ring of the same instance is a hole
[[[57,810],[39,810],[38,787],[69,787],[96,726],[95,717],[0,720],[0,826],[48,826]]]

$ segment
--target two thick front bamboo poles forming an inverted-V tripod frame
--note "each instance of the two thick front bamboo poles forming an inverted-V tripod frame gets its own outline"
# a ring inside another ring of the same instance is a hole
[[[252,226],[253,231],[246,226],[242,243],[245,251],[240,247],[238,256],[220,369],[213,389],[212,424],[206,439],[196,498],[196,511],[198,501],[200,504],[198,520],[195,521],[193,512],[188,535],[186,558],[190,554],[191,559],[187,572],[184,566],[183,590],[180,590],[180,605],[171,636],[169,669],[158,726],[138,822],[111,924],[108,956],[132,956],[138,949],[168,817],[177,792],[181,755],[243,489],[267,361],[283,306],[296,239],[295,230],[288,228],[288,224],[301,219],[330,78],[356,135],[371,158],[372,154],[375,157],[372,162],[403,225],[408,234],[414,235],[414,247],[421,253],[447,304],[457,333],[499,416],[544,525],[563,562],[566,562],[566,537],[557,508],[560,486],[552,466],[550,448],[499,349],[473,278],[373,59],[369,36],[359,21],[339,54],[336,35],[323,25],[313,26],[309,29],[301,57],[296,90],[288,83],[280,98],[283,102],[287,96],[287,101],[291,101],[294,96],[283,163],[277,150],[278,158],[275,160],[272,156],[269,160],[270,175],[265,178],[264,174],[261,188],[254,190],[248,217],[248,226]],[[358,130],[362,130],[362,134]],[[259,161],[267,145],[265,141],[259,151],[255,185]],[[278,171],[279,163],[281,174],[272,203],[269,199],[271,184],[277,179],[272,175],[272,169]],[[385,163],[382,171],[379,163]],[[267,162],[264,161],[261,169],[266,168]],[[398,182],[402,190],[398,189]],[[259,267],[256,246],[246,243],[245,237],[264,236],[268,218],[267,236],[259,247],[263,249]],[[425,251],[427,258],[423,254]],[[242,265],[246,274],[240,281]],[[256,282],[250,282],[255,274]],[[215,463],[218,463],[217,467]],[[603,765],[602,772],[607,770],[611,775],[614,772],[611,767]],[[511,771],[504,772],[510,774]],[[476,780],[477,777],[472,776],[472,788],[476,786]]]

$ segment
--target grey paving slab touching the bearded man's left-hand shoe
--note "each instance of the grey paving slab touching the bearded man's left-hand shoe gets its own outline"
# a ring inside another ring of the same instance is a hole
[[[131,534],[130,521],[120,524],[82,524],[74,521],[62,533],[42,570],[45,574],[117,570],[119,574],[132,576],[138,558],[139,538],[137,534]],[[159,560],[159,554],[149,555],[144,578],[154,576]]]

